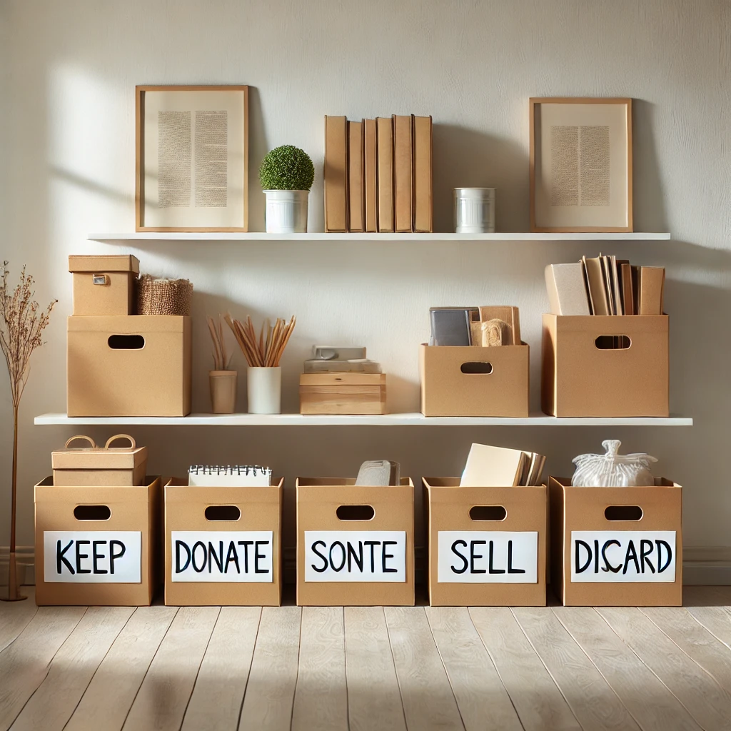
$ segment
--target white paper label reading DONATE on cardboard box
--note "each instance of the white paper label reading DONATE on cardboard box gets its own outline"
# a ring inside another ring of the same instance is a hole
[[[273,531],[170,531],[170,578],[271,583],[273,539]]]

